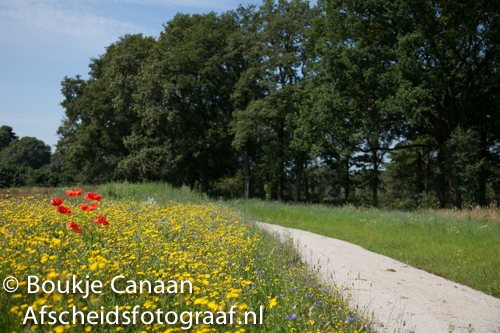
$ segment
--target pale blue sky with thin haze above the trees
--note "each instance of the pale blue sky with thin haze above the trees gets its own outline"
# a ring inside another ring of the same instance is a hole
[[[315,1],[314,1],[315,2]],[[0,126],[51,146],[61,81],[125,34],[158,36],[176,13],[222,13],[260,0],[0,0]],[[54,151],[54,149],[52,149]]]

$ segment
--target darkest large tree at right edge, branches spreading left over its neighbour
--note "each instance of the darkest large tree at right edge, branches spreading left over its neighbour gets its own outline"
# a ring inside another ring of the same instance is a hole
[[[484,128],[498,110],[491,101],[500,92],[499,7],[488,0],[327,0],[325,9],[340,45],[387,64],[396,91],[380,101],[392,102],[413,133],[434,138],[438,198],[444,206],[447,168],[449,202],[460,207],[460,179],[445,143],[458,126]]]

